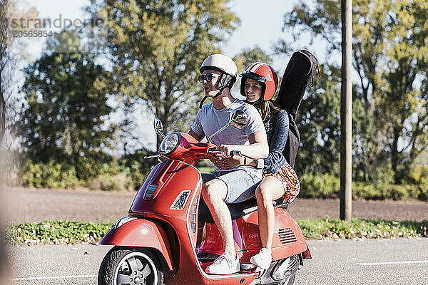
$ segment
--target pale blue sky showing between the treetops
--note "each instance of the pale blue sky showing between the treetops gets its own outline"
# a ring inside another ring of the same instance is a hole
[[[228,41],[223,42],[220,46],[222,52],[227,56],[233,57],[240,53],[243,48],[253,48],[256,45],[260,46],[265,53],[272,57],[273,68],[275,68],[278,73],[282,73],[287,66],[289,56],[275,56],[273,45],[280,40],[280,38],[291,39],[290,35],[282,32],[282,23],[285,13],[291,11],[292,7],[298,2],[297,0],[230,1],[230,9],[238,16],[241,23]],[[37,0],[31,3],[31,5],[34,5],[39,11],[39,19],[57,19],[60,15],[62,19],[84,19],[86,15],[82,7],[87,4],[88,0]],[[39,58],[43,46],[44,41],[33,38],[30,52],[34,59]],[[302,48],[304,46],[305,42],[302,42]],[[153,121],[153,118],[150,116],[145,116],[147,120]],[[144,115],[141,116],[141,114],[138,114],[138,118],[144,118]],[[151,128],[146,127],[147,125],[147,121],[138,122],[138,136],[141,137],[142,140],[145,140],[144,145],[146,147],[153,149],[156,142],[155,134]]]

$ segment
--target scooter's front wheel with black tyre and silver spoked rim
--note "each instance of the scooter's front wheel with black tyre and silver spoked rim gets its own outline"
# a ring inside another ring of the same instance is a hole
[[[150,249],[113,247],[98,271],[98,285],[162,285],[163,271]]]

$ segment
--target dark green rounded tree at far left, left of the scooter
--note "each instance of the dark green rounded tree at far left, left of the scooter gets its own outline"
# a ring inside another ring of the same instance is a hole
[[[63,38],[78,46],[77,36],[63,32],[49,41],[49,50],[63,44]],[[86,53],[45,53],[24,71],[28,108],[19,123],[24,149],[32,160],[71,163],[79,179],[97,175],[84,167],[106,159],[100,150],[108,147],[114,131],[107,121],[112,111],[108,73],[94,60]]]

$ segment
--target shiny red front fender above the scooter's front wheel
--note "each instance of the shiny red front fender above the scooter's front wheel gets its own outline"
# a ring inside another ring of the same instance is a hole
[[[161,225],[146,219],[131,219],[115,225],[101,239],[99,244],[120,247],[150,247],[157,249],[165,258],[170,270],[173,270],[172,255],[168,237]]]

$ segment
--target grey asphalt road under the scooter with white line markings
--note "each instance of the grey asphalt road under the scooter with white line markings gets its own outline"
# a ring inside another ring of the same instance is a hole
[[[312,259],[295,284],[428,284],[428,238],[307,241]],[[12,285],[96,284],[110,247],[39,245],[11,247]]]

